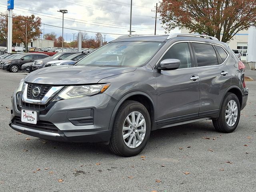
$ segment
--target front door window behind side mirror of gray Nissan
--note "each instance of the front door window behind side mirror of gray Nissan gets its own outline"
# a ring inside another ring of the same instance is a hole
[[[188,48],[188,43],[177,43],[172,46],[166,54],[164,54],[162,60],[165,59],[178,59],[180,60],[180,68],[192,67],[190,52]],[[160,62],[161,62],[160,61]]]

